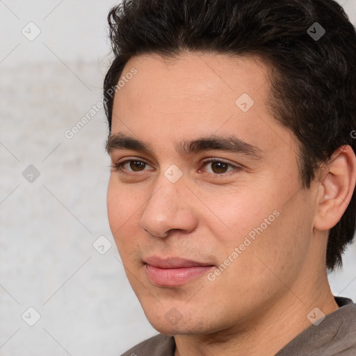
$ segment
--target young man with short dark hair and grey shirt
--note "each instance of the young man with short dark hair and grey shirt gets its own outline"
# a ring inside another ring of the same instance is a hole
[[[332,0],[108,16],[108,219],[159,332],[124,355],[356,355],[356,34]]]

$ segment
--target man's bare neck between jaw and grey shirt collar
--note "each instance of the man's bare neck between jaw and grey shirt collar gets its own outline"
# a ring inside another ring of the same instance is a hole
[[[307,318],[312,309],[318,307],[325,315],[338,309],[330,291],[326,270],[321,271],[317,279],[310,279],[306,283],[307,280],[286,286],[282,298],[270,302],[267,312],[248,324],[232,325],[212,334],[175,336],[175,356],[275,355],[312,325]]]

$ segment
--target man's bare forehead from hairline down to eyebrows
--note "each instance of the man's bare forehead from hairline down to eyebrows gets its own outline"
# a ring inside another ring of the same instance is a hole
[[[112,132],[161,148],[176,140],[234,134],[261,147],[286,145],[289,130],[268,111],[269,69],[252,57],[156,54],[131,58],[137,74],[115,95]],[[258,144],[258,145],[257,145]]]

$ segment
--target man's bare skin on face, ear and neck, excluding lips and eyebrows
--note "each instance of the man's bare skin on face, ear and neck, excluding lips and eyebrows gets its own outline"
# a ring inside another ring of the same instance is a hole
[[[341,218],[355,187],[356,158],[349,146],[302,188],[298,143],[268,111],[268,66],[257,58],[149,54],[131,58],[137,74],[115,95],[111,136],[125,133],[152,152],[109,146],[113,165],[145,161],[129,175],[112,168],[108,219],[127,277],[149,323],[175,335],[175,355],[275,355],[311,326],[307,314],[336,310],[325,268],[328,230]],[[254,105],[235,101],[248,93]],[[139,100],[138,100],[139,98]],[[188,156],[175,143],[231,135],[263,157],[210,149]],[[241,167],[219,172],[213,157]],[[182,177],[165,177],[175,164]],[[278,211],[238,258],[211,281],[156,286],[145,274],[148,256],[184,257],[219,266],[245,236]],[[165,315],[175,308],[177,323]],[[258,342],[256,342],[258,340]]]

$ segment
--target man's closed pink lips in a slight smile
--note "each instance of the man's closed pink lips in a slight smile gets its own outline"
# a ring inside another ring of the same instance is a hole
[[[148,257],[145,260],[147,278],[156,286],[182,286],[202,277],[215,266],[211,263],[171,257]]]

